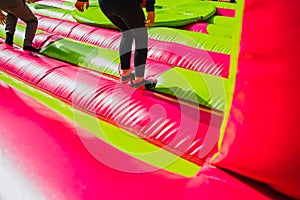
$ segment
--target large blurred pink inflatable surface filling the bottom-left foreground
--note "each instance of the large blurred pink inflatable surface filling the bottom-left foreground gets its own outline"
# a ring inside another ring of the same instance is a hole
[[[11,195],[13,191],[23,199],[52,200],[279,197],[272,196],[261,185],[235,178],[212,166],[205,166],[194,178],[155,169],[112,148],[2,81],[0,93],[0,172],[8,169],[6,175],[13,177],[12,180],[1,178],[0,184]],[[115,168],[120,164],[122,170]],[[136,173],[128,173],[126,169],[134,169]],[[145,169],[152,171],[141,173]]]

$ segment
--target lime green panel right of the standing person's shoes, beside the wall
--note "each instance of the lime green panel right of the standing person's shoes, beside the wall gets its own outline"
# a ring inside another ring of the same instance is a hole
[[[224,111],[227,79],[174,67],[157,80],[156,91]]]

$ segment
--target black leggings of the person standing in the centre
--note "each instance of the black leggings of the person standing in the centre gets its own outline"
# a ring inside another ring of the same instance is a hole
[[[120,29],[122,39],[119,53],[121,69],[130,69],[133,39],[135,40],[134,67],[137,77],[144,77],[148,52],[148,33],[145,15],[136,0],[98,0],[102,12]]]

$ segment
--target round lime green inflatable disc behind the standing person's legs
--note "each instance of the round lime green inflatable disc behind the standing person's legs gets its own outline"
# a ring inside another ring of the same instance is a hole
[[[169,1],[169,5],[172,5],[172,3],[172,1]],[[145,9],[144,12],[146,13]],[[215,12],[216,7],[212,3],[203,1],[181,2],[181,4],[176,6],[160,6],[159,4],[156,4],[155,23],[153,26],[183,26],[198,21],[204,21],[213,16]],[[81,23],[115,28],[104,16],[99,5],[95,2],[91,2],[89,9],[84,12],[79,12],[76,9],[73,10],[73,17]]]

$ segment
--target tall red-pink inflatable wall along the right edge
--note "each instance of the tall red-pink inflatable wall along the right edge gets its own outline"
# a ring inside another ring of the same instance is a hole
[[[233,102],[214,161],[294,199],[300,199],[298,3],[245,1]],[[261,14],[264,20],[254,20]]]

